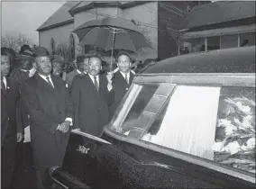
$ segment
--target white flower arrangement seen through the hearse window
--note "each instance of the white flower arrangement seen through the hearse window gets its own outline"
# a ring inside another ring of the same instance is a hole
[[[255,102],[224,98],[224,116],[215,132],[214,160],[255,174]]]

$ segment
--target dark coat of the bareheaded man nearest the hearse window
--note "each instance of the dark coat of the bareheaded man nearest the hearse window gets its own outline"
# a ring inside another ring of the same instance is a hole
[[[118,105],[121,103],[123,96],[128,91],[130,85],[133,82],[134,74],[130,72],[129,84],[125,81],[120,71],[114,73],[113,87],[114,87],[114,103],[110,105],[110,115],[114,115],[114,112]]]

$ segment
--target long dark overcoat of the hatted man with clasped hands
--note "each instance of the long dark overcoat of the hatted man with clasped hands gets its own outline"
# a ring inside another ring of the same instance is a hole
[[[22,86],[22,98],[31,117],[34,166],[61,166],[69,134],[57,130],[66,118],[74,118],[69,92],[59,76],[51,75],[54,88],[38,73]]]

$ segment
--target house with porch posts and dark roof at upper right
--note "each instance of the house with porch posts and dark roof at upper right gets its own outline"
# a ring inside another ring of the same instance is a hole
[[[255,45],[254,1],[195,6],[183,23],[179,54]],[[183,52],[182,52],[183,51]]]

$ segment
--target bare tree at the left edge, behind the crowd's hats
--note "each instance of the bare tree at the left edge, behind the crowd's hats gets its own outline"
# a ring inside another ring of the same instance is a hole
[[[1,36],[1,47],[12,48],[15,52],[19,52],[23,45],[32,44],[32,40],[21,32],[8,32]]]

